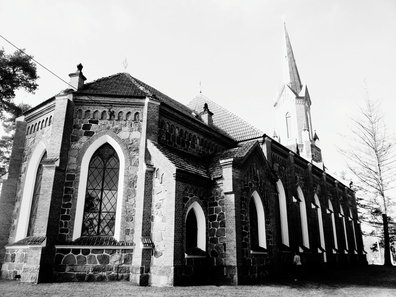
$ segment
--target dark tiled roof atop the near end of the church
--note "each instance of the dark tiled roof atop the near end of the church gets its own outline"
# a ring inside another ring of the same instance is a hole
[[[132,97],[152,97],[155,100],[165,103],[166,105],[178,110],[198,122],[202,121],[202,117],[198,112],[196,115],[192,114],[194,110],[183,105],[182,103],[172,99],[164,93],[154,89],[148,84],[134,78],[129,73],[120,72],[107,77],[99,78],[93,82],[88,82],[75,92],[75,94],[94,94],[94,95],[117,95],[117,96],[132,96]],[[203,107],[203,105],[202,105]],[[216,131],[230,137],[225,131],[217,127],[212,127]]]

